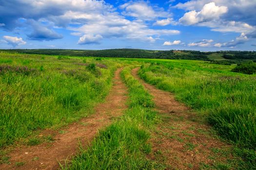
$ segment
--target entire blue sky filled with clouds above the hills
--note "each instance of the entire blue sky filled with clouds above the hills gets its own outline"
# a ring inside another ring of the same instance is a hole
[[[256,51],[256,0],[0,0],[0,49]]]

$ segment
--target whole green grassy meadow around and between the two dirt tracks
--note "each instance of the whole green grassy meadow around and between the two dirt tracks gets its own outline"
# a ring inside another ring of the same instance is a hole
[[[216,55],[217,60],[222,60]],[[216,57],[212,55],[212,59]],[[233,160],[223,169],[256,168],[256,74],[232,72],[232,65],[210,61],[71,57],[0,52],[0,149],[46,142],[38,135],[94,114],[113,86],[117,68],[128,88],[123,116],[100,130],[89,147],[60,165],[78,169],[166,169],[148,157],[150,139],[161,122],[153,96],[131,70],[210,124],[231,145]],[[211,135],[213,135],[211,134]],[[159,138],[159,142],[161,139]],[[223,151],[224,152],[224,151]],[[0,156],[1,156],[0,152]],[[158,156],[159,159],[164,159]],[[0,159],[0,164],[4,163]],[[233,167],[233,168],[232,168]],[[211,169],[211,168],[209,168]]]

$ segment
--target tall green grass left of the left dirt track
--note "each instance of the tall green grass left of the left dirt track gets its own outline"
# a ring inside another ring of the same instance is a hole
[[[91,69],[82,58],[8,53],[0,53],[0,63],[0,148],[93,113],[95,103],[108,94],[118,66],[87,59]]]

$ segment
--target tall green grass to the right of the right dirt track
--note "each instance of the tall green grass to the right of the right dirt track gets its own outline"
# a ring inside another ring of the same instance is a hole
[[[173,60],[146,64],[139,75],[206,113],[205,117],[221,136],[255,150],[256,77],[232,73],[233,67]]]

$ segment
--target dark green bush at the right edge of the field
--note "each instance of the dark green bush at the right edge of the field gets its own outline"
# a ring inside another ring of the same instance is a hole
[[[254,74],[256,73],[256,63],[254,63],[253,61],[250,61],[247,63],[241,63],[241,64],[238,64],[231,71],[240,72],[244,74]]]

